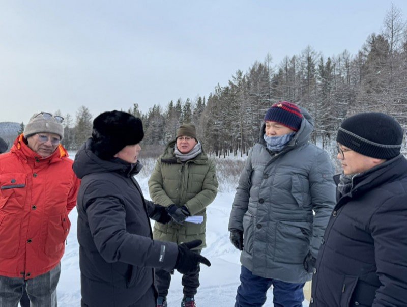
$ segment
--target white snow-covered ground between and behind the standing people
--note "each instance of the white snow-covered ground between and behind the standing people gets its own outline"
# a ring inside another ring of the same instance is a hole
[[[72,155],[73,156],[73,155]],[[148,178],[136,177],[144,197],[149,199]],[[207,215],[207,245],[202,255],[207,257],[212,266],[201,266],[200,287],[195,296],[199,307],[233,306],[236,289],[239,286],[240,252],[229,241],[227,224],[234,192],[220,192],[215,201],[208,207]],[[58,304],[60,307],[80,306],[80,273],[79,246],[76,239],[77,212],[70,214],[72,222],[68,236],[68,245],[62,259],[61,279],[57,288]],[[176,272],[172,276],[171,287],[167,297],[168,305],[180,306],[182,299],[181,275]],[[267,293],[266,306],[272,306],[273,294]],[[308,306],[304,302],[303,306]]]

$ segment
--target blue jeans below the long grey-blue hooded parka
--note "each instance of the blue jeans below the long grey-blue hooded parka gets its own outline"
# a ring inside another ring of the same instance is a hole
[[[259,307],[266,302],[266,292],[273,285],[274,307],[302,307],[305,283],[285,283],[271,278],[253,275],[242,265],[240,286],[236,295],[235,307]]]

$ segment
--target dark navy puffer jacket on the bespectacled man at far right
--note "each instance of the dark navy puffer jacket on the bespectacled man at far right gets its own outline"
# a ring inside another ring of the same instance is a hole
[[[338,195],[319,249],[310,306],[407,306],[403,156],[355,176],[351,191]]]

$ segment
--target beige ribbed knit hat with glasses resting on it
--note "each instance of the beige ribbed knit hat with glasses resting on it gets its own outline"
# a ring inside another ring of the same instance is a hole
[[[28,138],[33,134],[45,132],[58,134],[62,139],[64,137],[64,127],[61,124],[63,119],[47,112],[34,113],[24,128],[24,137]]]

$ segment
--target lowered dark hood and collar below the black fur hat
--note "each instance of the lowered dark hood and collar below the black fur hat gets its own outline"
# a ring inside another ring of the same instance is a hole
[[[138,161],[136,164],[131,164],[119,158],[102,160],[91,151],[92,142],[93,139],[90,137],[75,155],[72,168],[78,178],[82,179],[92,173],[110,172],[124,173],[130,177],[140,172],[142,164]]]

